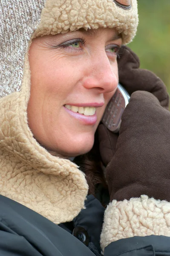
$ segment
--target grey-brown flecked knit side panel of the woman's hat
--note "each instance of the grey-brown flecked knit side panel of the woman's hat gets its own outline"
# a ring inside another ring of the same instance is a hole
[[[24,58],[45,0],[0,1],[0,98],[19,91]]]

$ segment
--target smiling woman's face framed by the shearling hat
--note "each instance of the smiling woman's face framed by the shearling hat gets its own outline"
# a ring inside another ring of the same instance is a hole
[[[35,38],[29,49],[29,127],[35,139],[66,157],[88,152],[118,84],[121,37],[83,29]]]

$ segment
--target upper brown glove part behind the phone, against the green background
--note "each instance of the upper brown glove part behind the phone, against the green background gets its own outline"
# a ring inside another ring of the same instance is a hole
[[[119,82],[131,95],[137,90],[144,90],[155,95],[161,106],[169,108],[169,95],[166,86],[158,76],[149,70],[139,68],[138,56],[127,46],[122,46],[118,58]]]

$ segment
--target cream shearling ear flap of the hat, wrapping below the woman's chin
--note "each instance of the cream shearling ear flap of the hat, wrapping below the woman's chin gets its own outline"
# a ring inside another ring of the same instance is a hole
[[[29,90],[27,54],[21,91],[0,99],[0,194],[56,224],[71,221],[84,208],[85,175],[34,139],[27,123]]]

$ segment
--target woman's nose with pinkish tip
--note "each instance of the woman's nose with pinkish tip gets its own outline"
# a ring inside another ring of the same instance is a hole
[[[98,93],[110,93],[118,85],[118,65],[117,61],[110,61],[106,52],[96,55],[86,65],[88,76],[84,80],[84,87],[94,88]]]

